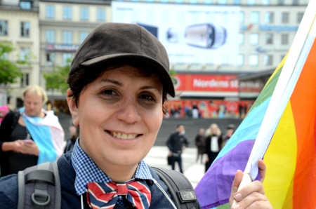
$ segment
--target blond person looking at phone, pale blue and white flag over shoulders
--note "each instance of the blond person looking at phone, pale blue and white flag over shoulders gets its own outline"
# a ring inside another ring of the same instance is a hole
[[[28,86],[24,107],[9,112],[0,126],[1,177],[62,155],[64,130],[52,111],[42,109],[48,98],[41,86]]]

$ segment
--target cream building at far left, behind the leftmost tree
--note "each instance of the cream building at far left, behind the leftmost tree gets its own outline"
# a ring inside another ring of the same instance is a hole
[[[15,50],[8,60],[23,60],[23,76],[1,88],[13,107],[21,107],[22,91],[29,84],[39,84],[39,7],[37,2],[2,0],[0,4],[0,41],[8,41]]]

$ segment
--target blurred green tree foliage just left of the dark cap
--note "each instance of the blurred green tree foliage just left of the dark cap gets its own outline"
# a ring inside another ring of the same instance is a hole
[[[46,89],[60,90],[62,93],[66,93],[69,88],[66,80],[70,72],[71,62],[72,60],[68,59],[66,61],[66,65],[54,67],[53,72],[47,72],[44,74]]]

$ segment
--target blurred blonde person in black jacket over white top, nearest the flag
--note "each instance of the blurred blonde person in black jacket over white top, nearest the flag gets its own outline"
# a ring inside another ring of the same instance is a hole
[[[212,123],[207,130],[207,137],[205,140],[205,173],[218,156],[220,149],[222,148],[223,136],[216,123]]]

